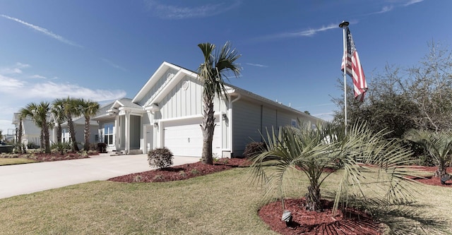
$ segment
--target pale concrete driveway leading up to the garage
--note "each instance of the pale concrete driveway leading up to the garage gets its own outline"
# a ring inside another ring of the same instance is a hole
[[[174,157],[174,165],[198,162],[198,157]],[[107,180],[149,171],[147,155],[102,154],[86,159],[0,166],[0,198],[35,193],[76,183]]]

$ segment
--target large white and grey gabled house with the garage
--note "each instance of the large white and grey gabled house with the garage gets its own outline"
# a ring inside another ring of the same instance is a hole
[[[226,90],[229,100],[215,97],[214,102],[213,154],[218,157],[242,156],[266,128],[322,121],[234,85],[226,84]],[[174,155],[201,157],[202,93],[195,72],[163,62],[132,100],[102,107],[93,120],[107,151],[136,154],[167,147]]]

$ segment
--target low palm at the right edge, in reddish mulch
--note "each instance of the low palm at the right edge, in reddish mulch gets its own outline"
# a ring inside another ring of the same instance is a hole
[[[447,162],[451,161],[452,153],[452,131],[420,131],[412,129],[408,131],[405,138],[424,147],[436,164],[435,176],[443,179],[447,176]]]

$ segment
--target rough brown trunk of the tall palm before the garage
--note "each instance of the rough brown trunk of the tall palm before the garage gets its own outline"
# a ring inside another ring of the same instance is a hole
[[[215,128],[215,118],[213,117],[213,97],[209,95],[203,95],[203,123],[201,128],[203,130],[203,153],[201,162],[204,164],[213,164],[212,157],[212,140],[213,130]]]

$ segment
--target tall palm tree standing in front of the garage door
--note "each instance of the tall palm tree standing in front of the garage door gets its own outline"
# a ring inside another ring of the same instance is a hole
[[[215,45],[209,42],[198,44],[203,52],[204,61],[198,68],[198,78],[203,82],[203,123],[201,130],[203,131],[203,153],[202,162],[205,164],[213,164],[212,157],[212,140],[215,128],[215,117],[213,116],[213,98],[215,95],[221,97],[225,92],[225,81],[227,72],[234,73],[238,77],[242,68],[236,64],[236,60],[240,55],[235,49],[231,49],[230,42],[222,47],[220,52],[215,50]]]

